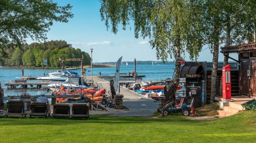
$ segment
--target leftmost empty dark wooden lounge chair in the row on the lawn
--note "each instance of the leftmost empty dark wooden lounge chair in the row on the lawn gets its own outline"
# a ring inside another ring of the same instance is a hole
[[[4,113],[4,116],[8,118],[8,116],[21,116],[28,115],[28,112],[24,111],[24,103],[22,101],[9,101],[7,102],[7,113]]]

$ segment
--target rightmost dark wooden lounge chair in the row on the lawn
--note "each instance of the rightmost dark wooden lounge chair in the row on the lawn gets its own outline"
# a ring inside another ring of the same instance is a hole
[[[74,118],[89,118],[89,108],[86,104],[73,104],[71,117]]]

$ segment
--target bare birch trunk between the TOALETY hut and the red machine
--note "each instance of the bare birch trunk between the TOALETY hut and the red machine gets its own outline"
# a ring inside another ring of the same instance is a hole
[[[215,44],[213,49],[213,67],[211,70],[211,99],[210,103],[215,102],[215,96],[217,95],[217,71],[218,71],[218,59],[219,59],[219,35],[220,31],[218,28],[215,29]]]

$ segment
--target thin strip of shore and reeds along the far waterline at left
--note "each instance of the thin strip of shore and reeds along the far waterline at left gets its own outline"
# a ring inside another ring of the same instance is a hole
[[[92,65],[93,68],[99,68],[99,67],[115,67],[116,65]],[[61,69],[61,67],[2,67],[0,69]],[[81,69],[81,67],[65,67],[66,68],[76,68]],[[91,68],[91,65],[84,65],[83,68]]]

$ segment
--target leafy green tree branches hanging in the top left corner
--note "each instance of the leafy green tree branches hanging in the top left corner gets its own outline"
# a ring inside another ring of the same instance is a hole
[[[46,40],[53,21],[68,22],[73,14],[69,4],[59,6],[52,0],[0,1],[0,52],[7,57],[7,48],[21,47],[28,37]]]

